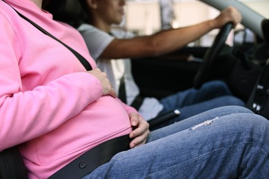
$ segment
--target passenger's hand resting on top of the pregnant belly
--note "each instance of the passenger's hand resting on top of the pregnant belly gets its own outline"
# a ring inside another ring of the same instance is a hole
[[[110,95],[110,96],[116,98],[117,94],[114,91],[110,81],[106,77],[106,73],[101,72],[101,70],[99,68],[95,68],[93,70],[90,70],[90,71],[88,71],[88,73],[97,77],[99,79],[99,81],[101,82],[102,87],[103,87],[102,96]]]

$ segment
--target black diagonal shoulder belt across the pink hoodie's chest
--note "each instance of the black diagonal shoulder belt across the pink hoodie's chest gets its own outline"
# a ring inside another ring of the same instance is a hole
[[[6,1],[2,0],[3,2],[7,3]],[[10,6],[9,3],[7,3],[8,6]],[[75,51],[74,49],[70,48],[68,45],[66,45],[66,43],[63,43],[62,41],[60,41],[59,39],[57,39],[55,36],[53,36],[52,34],[50,34],[48,31],[44,30],[43,28],[41,28],[39,25],[37,25],[37,23],[34,23],[33,21],[31,21],[30,19],[28,19],[28,17],[25,17],[23,14],[21,14],[20,12],[18,12],[17,10],[15,10],[12,6],[10,6],[14,11],[16,11],[20,17],[22,17],[23,19],[25,19],[26,21],[28,21],[29,23],[31,23],[32,25],[34,25],[35,28],[37,28],[38,30],[40,30],[41,32],[43,32],[43,34],[46,34],[48,36],[50,36],[52,39],[54,39],[55,41],[58,41],[59,43],[61,43],[63,46],[65,46],[68,50],[70,50],[74,56],[77,57],[77,59],[79,59],[79,61],[81,62],[81,64],[86,68],[87,71],[92,70],[92,66],[90,65],[90,63],[81,55],[79,54],[77,51]]]

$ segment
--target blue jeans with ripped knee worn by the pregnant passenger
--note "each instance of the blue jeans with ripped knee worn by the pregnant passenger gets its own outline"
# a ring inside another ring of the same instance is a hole
[[[152,131],[85,178],[268,178],[268,139],[266,118],[219,107]]]

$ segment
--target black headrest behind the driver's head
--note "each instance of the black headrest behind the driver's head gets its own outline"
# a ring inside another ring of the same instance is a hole
[[[69,23],[77,28],[85,19],[86,12],[79,0],[54,0],[43,5],[44,10],[53,14],[53,19]]]

